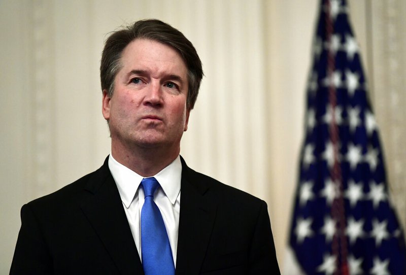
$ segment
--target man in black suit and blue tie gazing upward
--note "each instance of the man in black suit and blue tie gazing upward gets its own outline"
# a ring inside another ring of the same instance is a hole
[[[279,274],[266,203],[179,155],[202,75],[193,45],[161,21],[108,38],[111,154],[22,207],[11,274]]]

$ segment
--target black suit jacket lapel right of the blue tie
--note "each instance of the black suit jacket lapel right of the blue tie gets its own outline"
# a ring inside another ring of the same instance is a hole
[[[217,198],[182,160],[181,205],[176,274],[197,274],[213,229]]]

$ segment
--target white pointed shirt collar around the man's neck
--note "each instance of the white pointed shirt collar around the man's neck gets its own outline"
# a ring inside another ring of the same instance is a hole
[[[110,154],[109,168],[116,182],[121,200],[128,208],[137,194],[137,190],[143,179],[142,176],[115,160]],[[168,166],[153,176],[160,184],[163,192],[172,204],[175,204],[181,190],[182,163],[180,156]]]

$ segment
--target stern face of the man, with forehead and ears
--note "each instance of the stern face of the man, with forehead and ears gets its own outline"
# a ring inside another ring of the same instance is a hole
[[[121,63],[113,96],[107,91],[103,95],[103,116],[109,120],[112,147],[165,146],[179,151],[189,119],[183,59],[167,45],[137,39],[124,48]]]

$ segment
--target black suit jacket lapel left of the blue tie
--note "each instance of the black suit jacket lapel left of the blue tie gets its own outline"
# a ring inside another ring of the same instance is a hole
[[[92,195],[81,205],[82,211],[117,269],[121,274],[143,274],[141,260],[107,159],[85,189]]]

